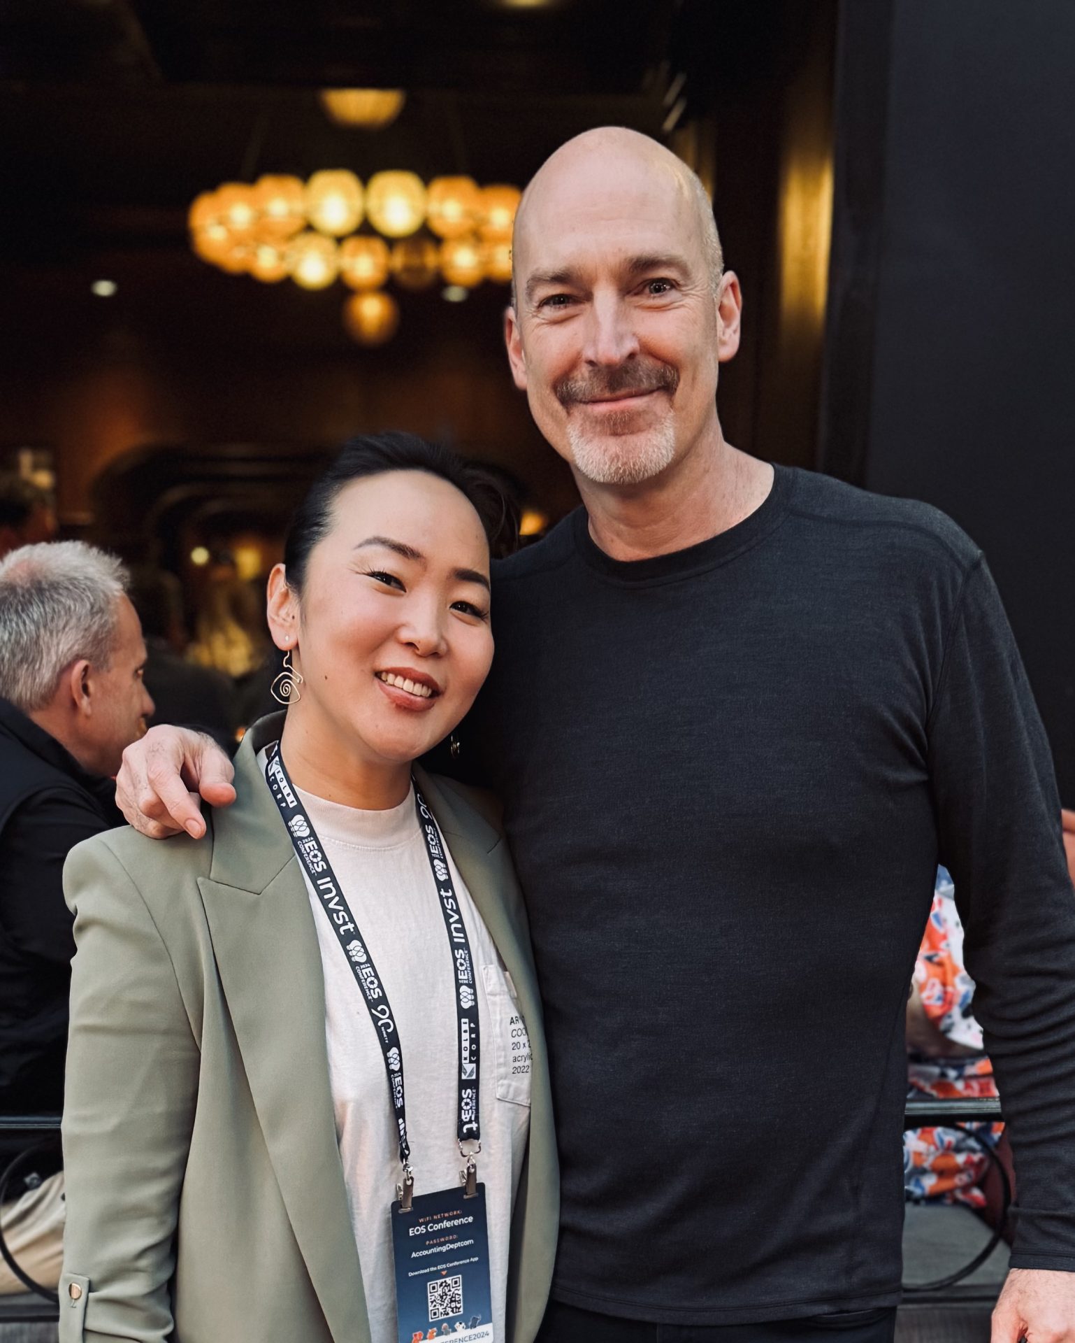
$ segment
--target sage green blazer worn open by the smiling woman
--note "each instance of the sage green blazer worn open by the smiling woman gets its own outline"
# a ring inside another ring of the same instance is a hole
[[[60,1343],[369,1343],[336,1140],[317,931],[256,752],[204,841],[113,830],[64,868],[78,954],[63,1115]],[[417,771],[519,995],[530,1142],[507,1340],[531,1343],[558,1183],[541,1002],[495,806]],[[387,1210],[385,1210],[387,1213]]]

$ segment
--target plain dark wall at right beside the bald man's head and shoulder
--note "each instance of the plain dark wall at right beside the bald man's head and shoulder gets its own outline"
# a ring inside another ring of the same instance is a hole
[[[985,549],[1075,806],[1075,5],[846,0],[820,465]]]

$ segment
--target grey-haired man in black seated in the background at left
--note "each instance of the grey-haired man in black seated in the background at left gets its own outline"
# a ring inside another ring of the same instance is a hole
[[[75,945],[70,849],[119,825],[111,776],[153,701],[118,560],[81,541],[0,561],[0,1111],[58,1113]],[[36,1175],[39,1176],[39,1170]],[[39,1283],[59,1281],[62,1176],[4,1205],[4,1236]],[[0,1293],[21,1291],[7,1266]]]

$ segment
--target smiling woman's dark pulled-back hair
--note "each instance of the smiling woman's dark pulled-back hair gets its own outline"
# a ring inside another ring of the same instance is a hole
[[[318,475],[299,504],[283,547],[287,586],[302,592],[310,552],[331,529],[340,492],[366,475],[385,471],[428,471],[454,485],[474,505],[494,555],[510,553],[518,532],[507,500],[491,475],[440,443],[416,434],[361,434],[349,439],[333,463]]]

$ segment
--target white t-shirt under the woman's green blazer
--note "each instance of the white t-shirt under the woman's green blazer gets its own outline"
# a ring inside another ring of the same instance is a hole
[[[264,752],[260,761],[264,768]],[[297,791],[392,1003],[403,1048],[415,1194],[458,1189],[463,1162],[456,1139],[455,972],[413,790],[389,811],[358,811]],[[478,1179],[486,1186],[493,1324],[501,1340],[511,1207],[530,1127],[530,1042],[511,976],[451,853],[448,865],[478,979]],[[384,1056],[348,958],[309,880],[306,885],[325,971],[329,1080],[370,1339],[396,1343],[389,1209],[400,1159]]]

